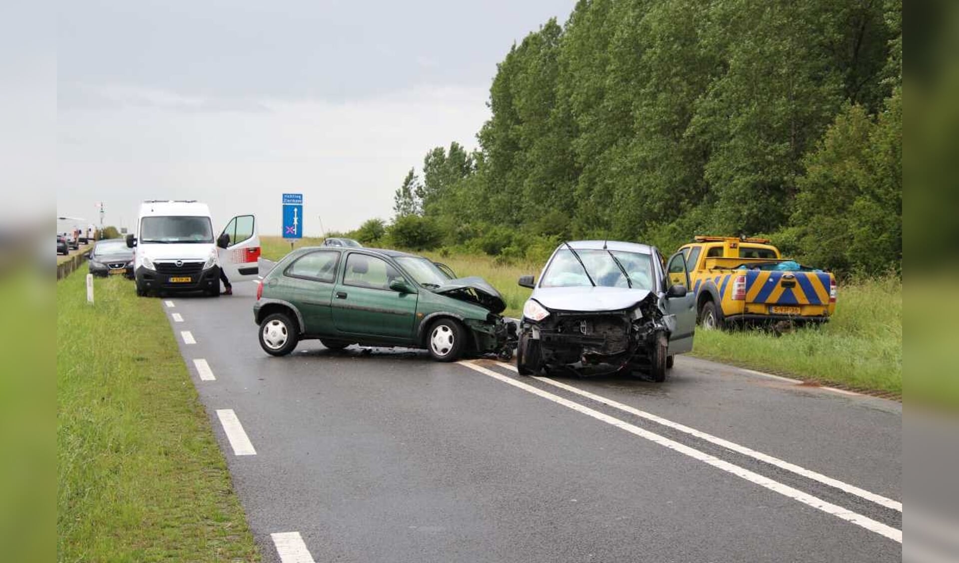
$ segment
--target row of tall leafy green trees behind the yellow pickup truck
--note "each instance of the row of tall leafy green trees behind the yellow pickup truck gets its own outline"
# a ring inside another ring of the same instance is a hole
[[[543,259],[770,236],[901,271],[901,0],[580,0],[514,44],[469,151],[430,150],[354,235]]]

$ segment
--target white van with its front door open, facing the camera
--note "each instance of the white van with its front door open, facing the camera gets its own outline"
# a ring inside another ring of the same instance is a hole
[[[214,237],[210,209],[197,201],[145,201],[140,205],[134,248],[136,294],[203,292],[220,295],[221,272],[230,283],[256,280],[260,237],[256,217],[239,215]]]

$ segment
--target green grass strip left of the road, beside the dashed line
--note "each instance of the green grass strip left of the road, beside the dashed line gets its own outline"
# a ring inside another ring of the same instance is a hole
[[[84,281],[57,284],[58,561],[258,561],[161,302]]]

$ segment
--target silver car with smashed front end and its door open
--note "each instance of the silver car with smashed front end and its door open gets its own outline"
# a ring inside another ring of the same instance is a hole
[[[670,285],[654,246],[580,240],[560,245],[523,307],[516,367],[648,372],[664,381],[673,356],[692,349],[696,322],[686,283]]]

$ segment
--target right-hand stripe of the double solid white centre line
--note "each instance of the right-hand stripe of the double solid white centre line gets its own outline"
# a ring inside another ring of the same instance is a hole
[[[503,364],[503,367],[513,370],[514,372],[516,371],[516,366]],[[888,499],[882,495],[878,495],[874,492],[870,492],[868,490],[859,488],[855,486],[854,484],[843,483],[842,481],[839,481],[838,479],[833,479],[827,475],[823,475],[822,473],[817,473],[815,471],[812,471],[811,469],[807,469],[805,467],[796,465],[795,463],[785,462],[784,460],[774,458],[768,454],[763,454],[762,452],[758,452],[746,446],[739,445],[736,442],[729,441],[728,439],[721,439],[713,436],[712,434],[707,434],[700,430],[696,430],[695,428],[690,428],[689,426],[686,426],[685,424],[680,424],[679,422],[673,422],[672,420],[668,420],[667,418],[664,418],[664,417],[657,417],[656,415],[653,415],[652,413],[646,413],[645,411],[641,411],[629,405],[624,405],[618,401],[615,401],[611,398],[606,398],[602,395],[593,394],[588,391],[583,391],[582,389],[579,389],[578,387],[573,387],[572,385],[567,385],[566,383],[555,381],[553,379],[550,379],[549,377],[541,377],[538,375],[534,375],[534,377],[544,383],[549,383],[550,385],[554,387],[565,389],[566,391],[569,391],[571,393],[585,396],[586,398],[593,399],[596,402],[609,405],[616,409],[620,409],[620,411],[624,411],[626,413],[629,413],[630,415],[643,417],[646,420],[651,420],[653,422],[656,422],[657,424],[662,424],[663,426],[667,426],[669,428],[672,428],[673,430],[685,432],[686,434],[689,434],[690,436],[694,436],[698,439],[705,439],[706,441],[712,442],[718,446],[722,446],[726,449],[733,450],[734,452],[737,452],[744,456],[749,456],[750,458],[753,458],[754,460],[759,460],[760,462],[766,462],[766,463],[769,463],[770,465],[776,465],[777,467],[781,469],[785,469],[786,471],[791,471],[797,475],[802,475],[803,477],[806,477],[807,479],[818,481],[819,483],[822,483],[822,484],[828,484],[830,486],[838,488],[839,490],[843,492],[847,492],[857,497],[866,499],[867,501],[876,503],[877,505],[881,507],[892,508],[894,510],[899,510],[900,512],[902,511],[901,502],[894,501],[893,499]]]

